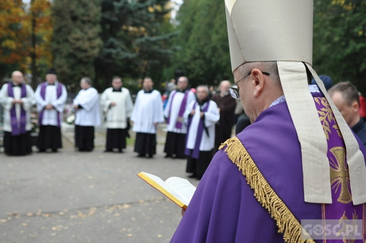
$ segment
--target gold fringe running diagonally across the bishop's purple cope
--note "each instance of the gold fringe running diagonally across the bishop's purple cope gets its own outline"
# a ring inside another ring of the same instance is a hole
[[[295,216],[288,209],[285,203],[278,197],[276,192],[265,180],[261,171],[254,163],[243,144],[237,137],[228,139],[222,143],[219,149],[223,149],[229,159],[235,163],[245,176],[246,182],[254,190],[254,196],[258,202],[268,210],[268,213],[275,219],[278,232],[284,235],[286,243],[314,243],[301,238],[302,227]],[[304,232],[306,234],[306,232]]]

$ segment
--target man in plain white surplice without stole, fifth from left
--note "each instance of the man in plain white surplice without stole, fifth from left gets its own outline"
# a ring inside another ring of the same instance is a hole
[[[143,89],[137,93],[131,115],[132,131],[136,132],[134,151],[138,157],[153,158],[156,154],[156,131],[158,124],[164,121],[162,95],[153,85],[150,77],[143,79]]]

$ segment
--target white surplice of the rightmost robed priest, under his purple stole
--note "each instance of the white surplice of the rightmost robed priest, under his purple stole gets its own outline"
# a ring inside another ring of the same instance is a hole
[[[192,112],[194,103],[196,101],[192,101],[189,103],[187,109],[184,112],[184,122],[188,123],[188,115]],[[200,151],[210,151],[215,146],[215,124],[220,120],[220,112],[217,109],[217,104],[215,101],[208,101],[209,106],[208,110],[204,112],[204,126],[208,130],[208,135],[203,128],[202,131],[202,140],[200,143]],[[202,106],[202,109],[208,104],[205,102]],[[187,143],[186,148],[194,149],[197,139],[198,133],[198,125],[201,120],[201,111],[198,103],[196,104],[195,113],[192,117],[192,121],[189,127],[189,131],[187,134]]]

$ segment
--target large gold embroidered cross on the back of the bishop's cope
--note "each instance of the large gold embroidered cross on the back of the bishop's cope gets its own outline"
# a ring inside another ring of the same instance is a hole
[[[337,199],[340,203],[350,203],[352,196],[350,193],[348,166],[346,164],[346,151],[344,147],[334,147],[329,150],[335,158],[329,161],[330,166],[330,184],[335,193],[340,189],[340,195]]]

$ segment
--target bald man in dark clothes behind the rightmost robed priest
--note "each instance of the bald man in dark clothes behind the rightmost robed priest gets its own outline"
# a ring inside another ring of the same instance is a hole
[[[222,142],[231,138],[231,131],[234,125],[234,112],[236,101],[229,93],[230,81],[221,81],[219,93],[212,96],[212,101],[215,101],[219,107],[220,121],[216,123],[215,149],[217,152]]]

